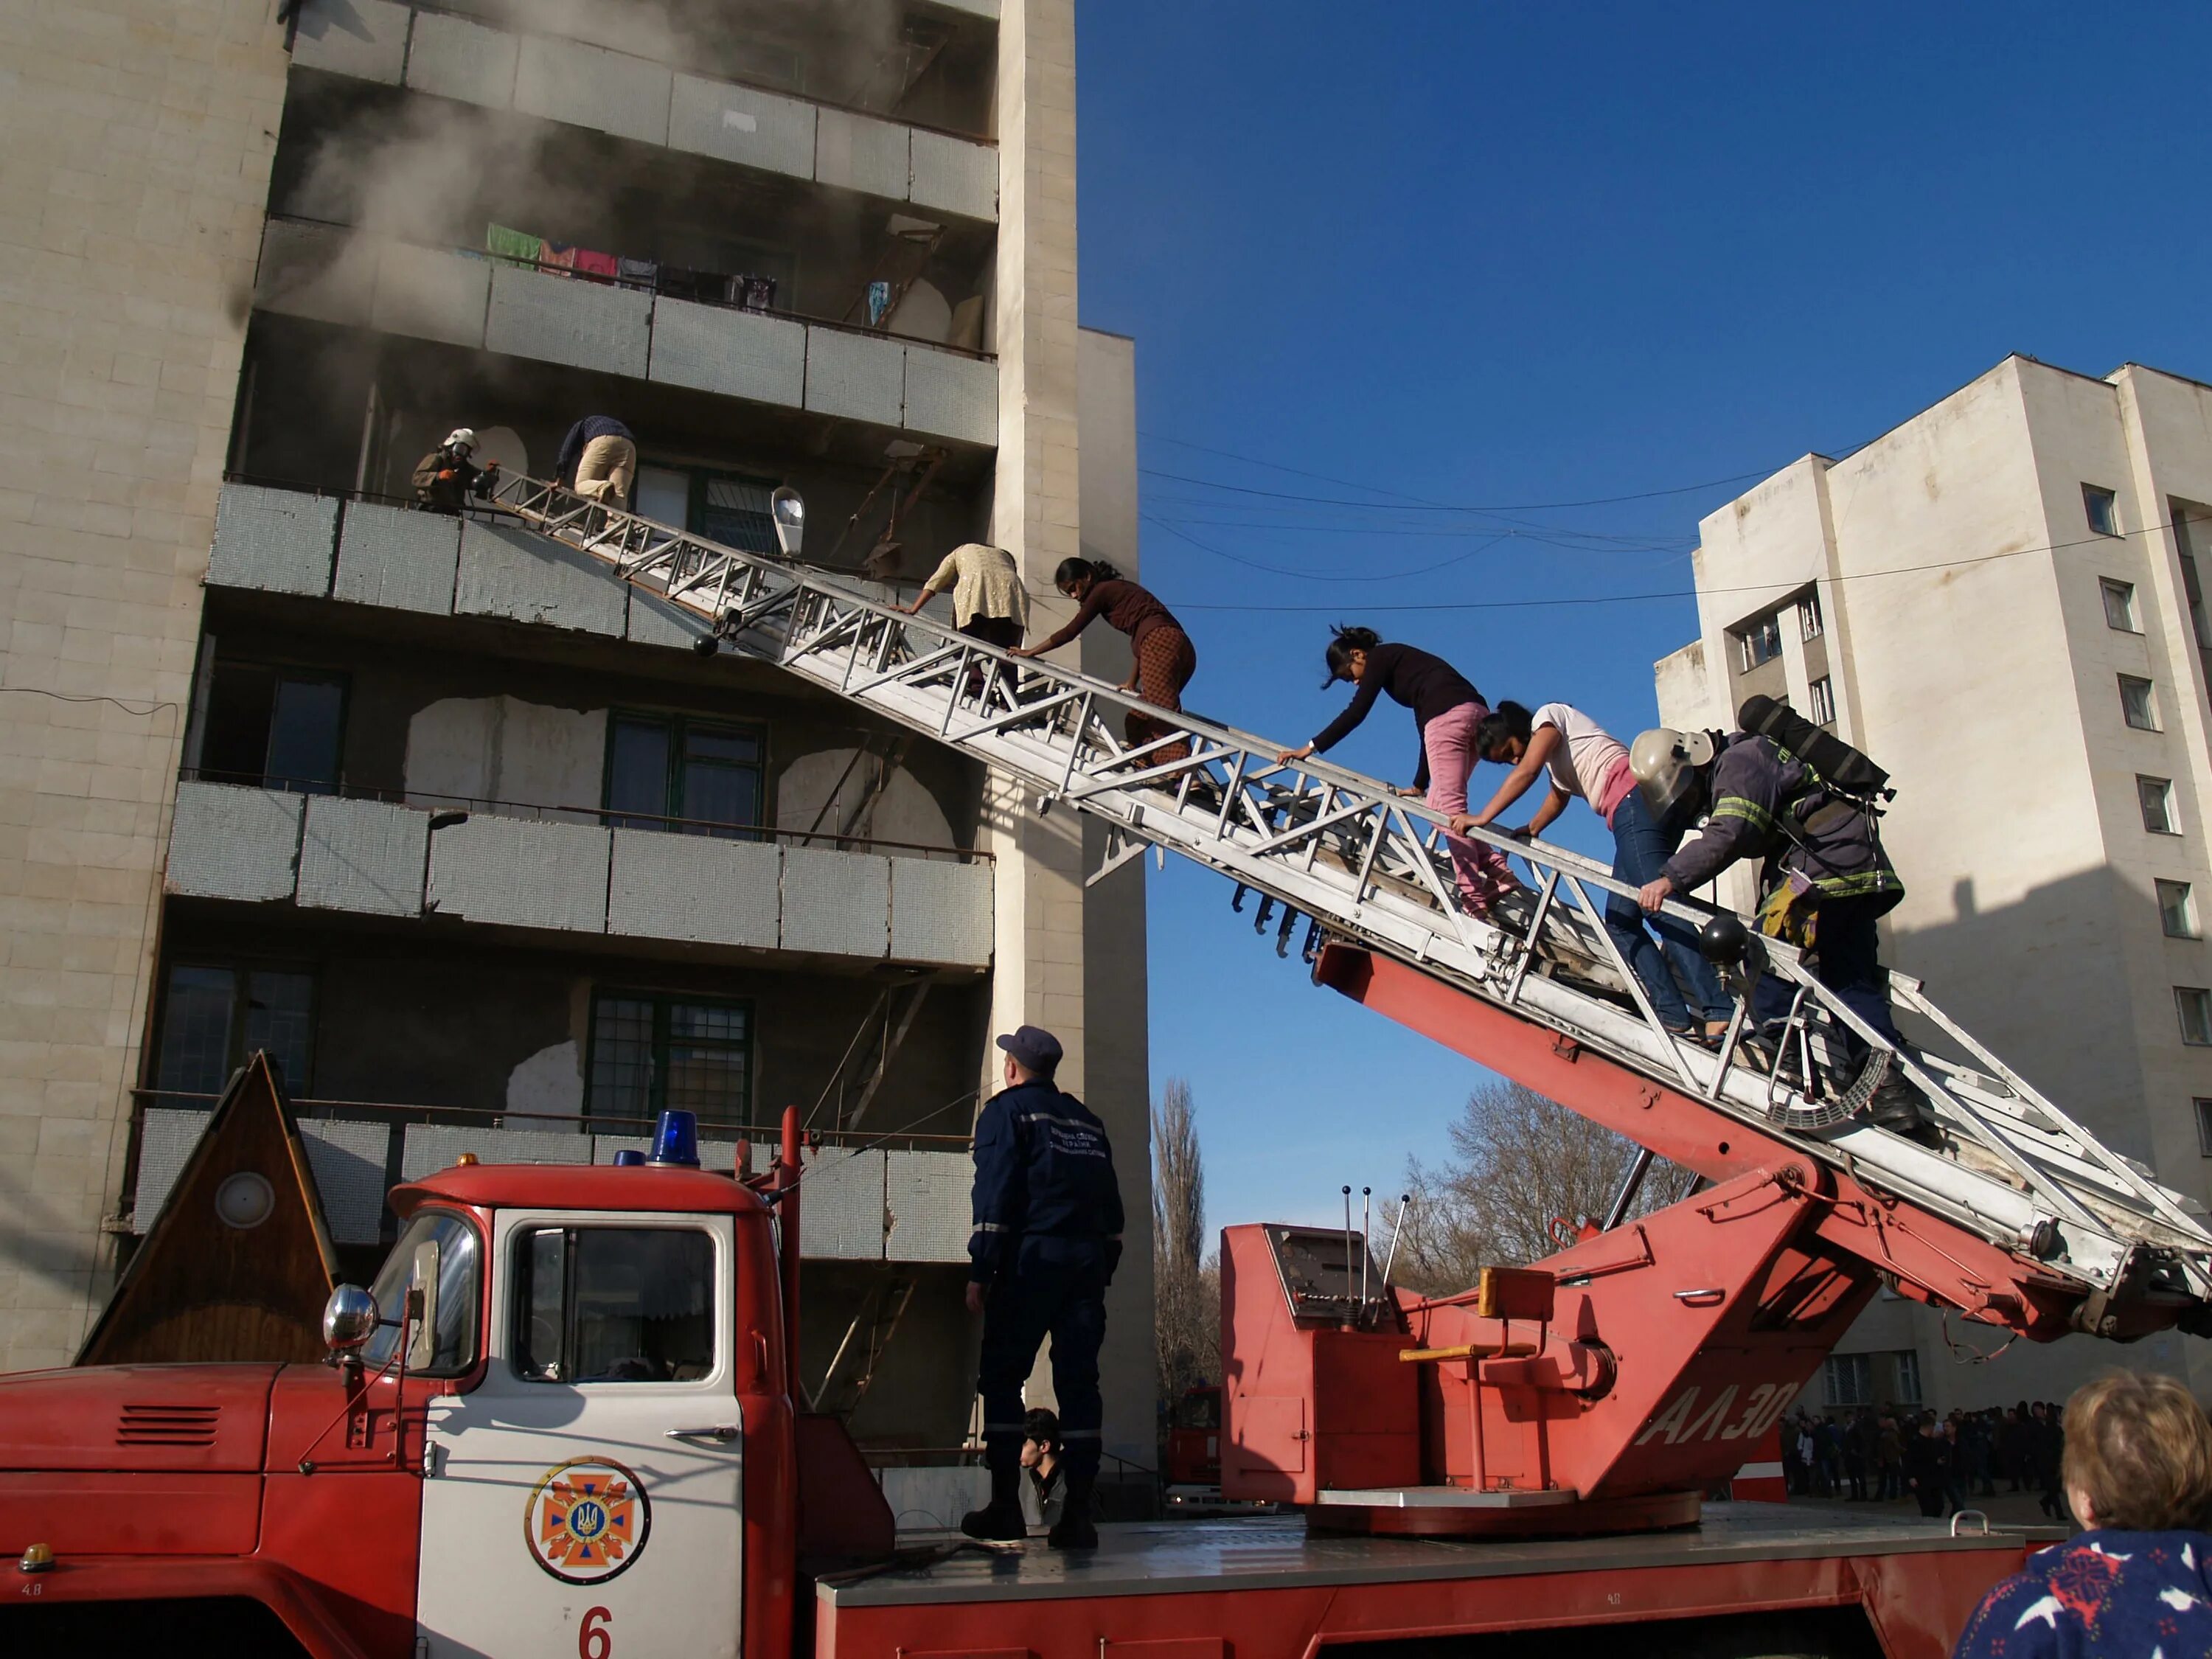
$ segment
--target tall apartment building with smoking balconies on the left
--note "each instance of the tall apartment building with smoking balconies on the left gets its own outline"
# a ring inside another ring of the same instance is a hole
[[[637,511],[911,582],[1133,568],[1135,361],[1075,323],[1073,0],[177,0],[24,11],[0,294],[0,1367],[66,1365],[270,1051],[367,1272],[387,1181],[717,1157],[796,1104],[805,1369],[960,1442],[967,1133],[1060,1033],[1148,1208],[1141,869],[982,768],[489,515],[451,427]],[[891,544],[891,546],[887,546]],[[887,588],[891,591],[891,588]],[[1119,675],[1119,641],[1084,666]],[[1108,1444],[1152,1453],[1141,1230]]]

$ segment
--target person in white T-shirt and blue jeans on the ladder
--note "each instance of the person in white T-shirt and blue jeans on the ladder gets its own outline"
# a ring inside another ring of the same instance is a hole
[[[1566,812],[1568,801],[1588,801],[1613,830],[1613,878],[1635,889],[1659,876],[1681,845],[1686,825],[1652,818],[1637,792],[1628,748],[1573,703],[1544,703],[1535,712],[1520,703],[1500,703],[1475,726],[1475,754],[1513,770],[1482,812],[1451,821],[1453,834],[1467,834],[1471,825],[1486,830],[1548,774],[1551,792],[1528,825],[1504,834],[1537,836]],[[1659,942],[1652,942],[1646,920],[1659,931]],[[1646,918],[1637,900],[1621,894],[1608,896],[1604,922],[1644,995],[1650,998],[1659,1024],[1708,1046],[1728,1033],[1728,991],[1719,971],[1697,949],[1697,933],[1688,925],[1672,916]],[[1692,1002],[1697,1006],[1690,1006]]]

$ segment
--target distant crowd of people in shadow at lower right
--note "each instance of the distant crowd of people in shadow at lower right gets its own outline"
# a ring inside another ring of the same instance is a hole
[[[2062,1407],[2020,1400],[1982,1411],[1858,1407],[1836,1416],[1798,1411],[1783,1420],[1783,1475],[1792,1498],[1843,1502],[1918,1500],[1920,1513],[1955,1515],[1973,1498],[2033,1491],[2044,1515],[2066,1515],[2059,1464]]]

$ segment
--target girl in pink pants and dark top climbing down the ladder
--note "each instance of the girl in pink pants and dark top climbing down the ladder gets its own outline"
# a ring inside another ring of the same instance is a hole
[[[1413,787],[1400,794],[1425,794],[1447,818],[1467,812],[1467,774],[1475,770],[1475,726],[1491,710],[1458,668],[1416,646],[1385,644],[1374,628],[1336,628],[1327,650],[1329,677],[1358,686],[1349,708],[1329,721],[1312,743],[1283,750],[1276,759],[1290,765],[1340,743],[1374,708],[1378,695],[1413,710],[1420,730],[1420,759],[1413,765]],[[1489,916],[1502,894],[1520,887],[1506,856],[1484,841],[1444,836],[1451,869],[1458,876],[1460,902],[1473,916]]]

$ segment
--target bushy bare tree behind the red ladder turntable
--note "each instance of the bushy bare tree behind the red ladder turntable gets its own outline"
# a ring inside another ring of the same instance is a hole
[[[1498,1079],[1467,1097],[1438,1166],[1407,1161],[1411,1219],[1394,1279],[1422,1292],[1455,1292],[1484,1267],[1548,1256],[1584,1219],[1604,1219],[1637,1146],[1533,1088]],[[1688,1194],[1692,1175],[1655,1161],[1630,1214]],[[1394,1228],[1398,1217],[1391,1217]]]

